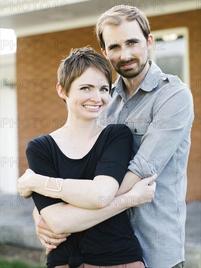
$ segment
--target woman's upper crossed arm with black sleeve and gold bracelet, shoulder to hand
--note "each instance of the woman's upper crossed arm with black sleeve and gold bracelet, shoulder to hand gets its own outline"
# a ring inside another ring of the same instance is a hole
[[[107,200],[114,198],[126,173],[131,155],[132,133],[125,125],[113,125],[105,138],[93,180],[62,179],[26,172],[19,179],[20,194],[28,196],[34,191],[86,209],[107,206]],[[105,202],[100,202],[103,199]]]

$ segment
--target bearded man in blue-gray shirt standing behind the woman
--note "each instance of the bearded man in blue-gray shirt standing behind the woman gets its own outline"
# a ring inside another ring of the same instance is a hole
[[[190,90],[148,60],[153,36],[137,8],[113,7],[102,14],[96,30],[103,55],[120,74],[99,122],[130,127],[134,146],[128,180],[135,183],[158,173],[155,199],[129,209],[130,221],[149,268],[183,268],[186,168],[194,118]],[[69,221],[76,224],[72,217]],[[44,229],[48,227],[40,218],[38,234],[53,236]]]

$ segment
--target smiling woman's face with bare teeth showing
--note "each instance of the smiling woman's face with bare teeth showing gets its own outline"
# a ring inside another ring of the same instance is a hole
[[[105,75],[91,67],[70,85],[65,98],[68,116],[83,119],[98,118],[109,101],[109,83]]]

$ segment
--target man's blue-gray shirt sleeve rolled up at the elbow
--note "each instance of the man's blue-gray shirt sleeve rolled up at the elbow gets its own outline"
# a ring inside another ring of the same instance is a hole
[[[170,158],[186,142],[194,118],[192,94],[184,84],[169,84],[152,108],[153,120],[141,138],[141,146],[128,170],[141,178],[160,174]],[[182,159],[179,159],[182,161]]]

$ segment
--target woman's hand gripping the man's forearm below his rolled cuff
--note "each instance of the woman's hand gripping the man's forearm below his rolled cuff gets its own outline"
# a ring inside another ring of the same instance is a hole
[[[155,179],[157,176],[157,174],[154,174],[151,177],[142,179],[134,184],[132,189],[126,193],[128,199],[127,206],[129,208],[140,207],[146,205],[147,203],[151,203],[156,191]]]

